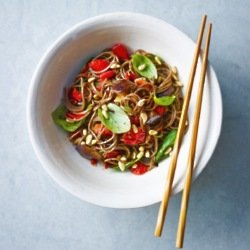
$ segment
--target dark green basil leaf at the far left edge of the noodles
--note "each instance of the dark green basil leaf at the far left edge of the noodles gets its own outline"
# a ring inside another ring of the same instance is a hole
[[[53,112],[52,118],[56,125],[61,127],[67,132],[74,132],[77,130],[84,122],[85,119],[77,122],[67,122],[65,114],[67,112],[67,108],[64,105],[59,105]]]

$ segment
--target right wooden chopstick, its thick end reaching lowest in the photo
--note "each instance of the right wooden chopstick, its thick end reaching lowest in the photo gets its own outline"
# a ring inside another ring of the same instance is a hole
[[[197,142],[197,136],[198,136],[198,130],[199,130],[202,96],[203,96],[204,82],[205,82],[205,76],[206,76],[206,71],[207,71],[207,59],[208,59],[211,31],[212,31],[212,24],[210,23],[208,26],[208,31],[207,31],[205,50],[204,50],[203,61],[202,61],[202,70],[201,70],[198,95],[197,95],[197,100],[196,100],[194,123],[193,123],[193,128],[192,128],[192,138],[191,138],[191,144],[189,148],[188,163],[187,163],[187,170],[186,170],[186,180],[185,180],[184,189],[182,193],[181,210],[180,210],[180,217],[179,217],[177,236],[176,236],[177,248],[183,247],[188,201],[189,201],[192,176],[193,176],[196,142]]]

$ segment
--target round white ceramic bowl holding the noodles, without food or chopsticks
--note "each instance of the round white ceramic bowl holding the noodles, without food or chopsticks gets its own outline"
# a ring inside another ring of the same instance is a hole
[[[196,29],[199,24],[197,23]],[[161,200],[169,159],[142,175],[117,173],[92,167],[68,142],[52,121],[51,112],[60,103],[84,62],[114,43],[145,49],[177,66],[187,83],[195,44],[175,27],[159,19],[135,13],[112,13],[83,21],[58,38],[47,50],[33,75],[27,104],[28,130],[37,157],[49,175],[82,200],[106,207],[132,208]],[[197,75],[199,76],[200,62]],[[189,119],[192,121],[198,76],[194,83]],[[185,93],[185,87],[184,87]],[[222,122],[219,84],[208,67],[195,161],[194,179],[201,173],[216,146]],[[192,125],[192,122],[191,124]],[[173,194],[182,189],[191,129],[180,151]]]

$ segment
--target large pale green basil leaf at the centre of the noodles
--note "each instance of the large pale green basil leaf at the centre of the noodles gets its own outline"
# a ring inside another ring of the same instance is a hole
[[[131,123],[128,115],[116,104],[109,103],[107,115],[105,118],[102,109],[98,109],[98,117],[103,125],[115,134],[123,134],[131,128]]]

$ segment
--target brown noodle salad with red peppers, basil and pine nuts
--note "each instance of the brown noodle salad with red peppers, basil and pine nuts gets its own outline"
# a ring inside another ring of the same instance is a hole
[[[172,151],[181,88],[176,67],[118,43],[86,63],[52,118],[93,165],[140,175]]]

